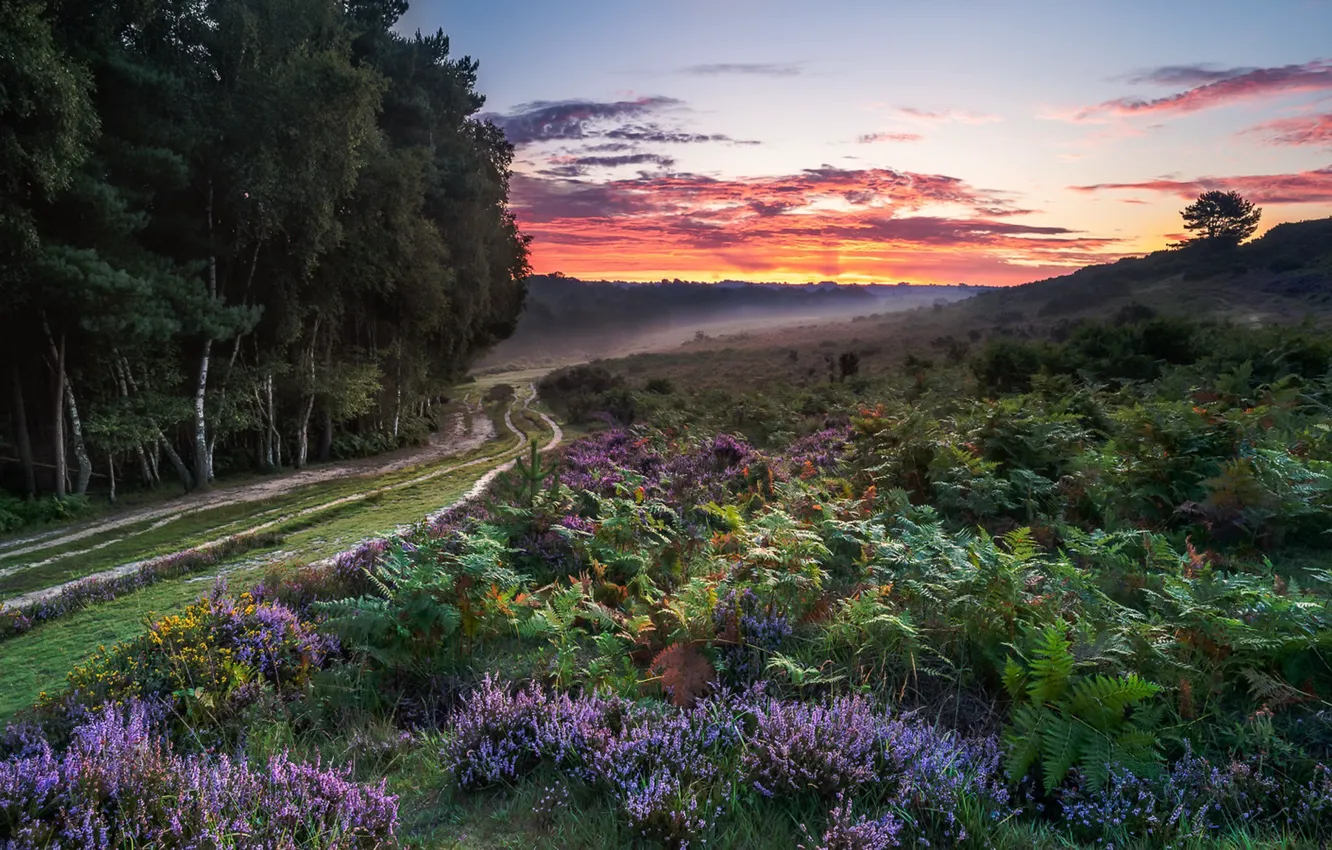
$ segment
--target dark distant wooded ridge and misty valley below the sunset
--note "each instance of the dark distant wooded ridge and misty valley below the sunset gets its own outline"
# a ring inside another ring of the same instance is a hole
[[[984,286],[582,281],[529,278],[514,334],[481,368],[571,362],[678,345],[703,334],[892,313],[970,298]]]

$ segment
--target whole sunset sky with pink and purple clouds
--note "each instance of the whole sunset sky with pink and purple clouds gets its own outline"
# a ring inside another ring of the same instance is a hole
[[[1332,216],[1332,0],[416,0],[538,273],[1010,285]]]

